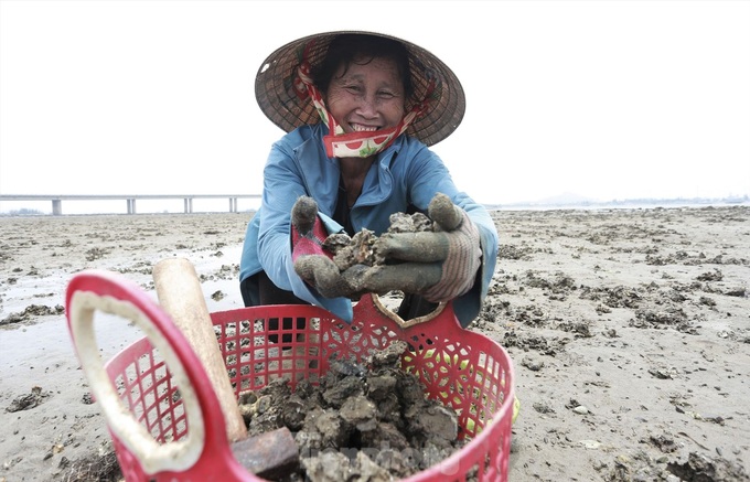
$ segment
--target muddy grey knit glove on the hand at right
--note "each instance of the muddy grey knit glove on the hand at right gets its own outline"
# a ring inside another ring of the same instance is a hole
[[[479,229],[444,194],[432,197],[428,216],[432,232],[381,236],[376,250],[386,264],[367,270],[362,287],[356,288],[401,290],[432,302],[449,301],[469,291],[481,265]]]

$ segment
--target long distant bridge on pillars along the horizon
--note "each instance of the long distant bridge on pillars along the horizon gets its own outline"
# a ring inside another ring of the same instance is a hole
[[[136,214],[136,201],[138,200],[183,200],[184,212],[193,212],[193,200],[227,199],[229,213],[237,212],[237,200],[260,199],[260,194],[0,194],[2,201],[52,201],[52,214],[63,214],[63,201],[111,201],[124,200],[127,203],[128,214]]]

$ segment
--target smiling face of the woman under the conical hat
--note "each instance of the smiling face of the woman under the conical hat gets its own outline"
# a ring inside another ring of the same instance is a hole
[[[404,81],[390,58],[341,65],[324,96],[344,132],[396,127],[405,113]]]

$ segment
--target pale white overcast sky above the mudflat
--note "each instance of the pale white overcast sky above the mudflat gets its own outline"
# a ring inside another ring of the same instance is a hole
[[[0,0],[0,194],[259,194],[256,72],[329,30],[451,67],[478,202],[750,194],[750,0]]]

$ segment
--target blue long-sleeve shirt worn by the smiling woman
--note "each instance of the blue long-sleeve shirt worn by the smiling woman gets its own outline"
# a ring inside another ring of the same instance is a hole
[[[260,208],[247,226],[239,264],[240,281],[261,270],[279,288],[322,307],[339,318],[352,320],[347,298],[323,298],[294,271],[291,259],[291,210],[301,195],[318,203],[329,233],[341,231],[332,219],[339,196],[341,171],[335,158],[325,156],[323,125],[303,126],[274,143],[264,169]],[[411,205],[427,211],[435,194],[448,195],[476,224],[482,247],[482,265],[475,286],[453,300],[453,310],[462,325],[476,315],[486,296],[497,256],[497,231],[486,210],[458,190],[440,158],[419,140],[400,136],[367,172],[362,193],[350,212],[355,232],[367,228],[379,236],[389,226],[393,213]]]

